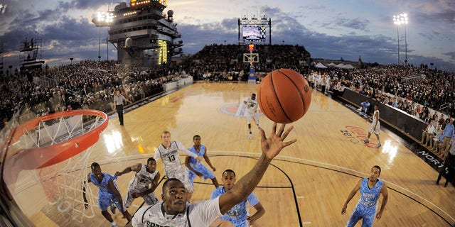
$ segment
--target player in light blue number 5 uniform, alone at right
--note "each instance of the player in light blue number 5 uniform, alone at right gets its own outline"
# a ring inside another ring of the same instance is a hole
[[[355,223],[360,221],[360,219],[363,219],[362,227],[373,226],[380,194],[382,194],[382,204],[378,214],[376,214],[376,218],[379,220],[382,217],[382,211],[385,209],[389,196],[387,194],[385,182],[378,179],[380,173],[381,167],[378,165],[373,166],[371,168],[370,177],[360,179],[348,195],[348,199],[346,199],[343,209],[341,209],[341,214],[346,214],[346,208],[348,207],[349,201],[353,199],[358,191],[360,191],[360,199],[357,206],[355,206],[353,214],[350,216],[346,227],[355,226]]]

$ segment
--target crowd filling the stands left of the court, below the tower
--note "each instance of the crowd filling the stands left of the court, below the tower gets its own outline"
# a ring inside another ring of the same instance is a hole
[[[112,111],[120,90],[131,101],[163,91],[162,84],[186,77],[166,65],[154,70],[121,67],[112,61],[84,60],[76,64],[45,67],[41,71],[16,71],[0,77],[1,128],[11,118],[23,123],[31,118],[73,109]]]

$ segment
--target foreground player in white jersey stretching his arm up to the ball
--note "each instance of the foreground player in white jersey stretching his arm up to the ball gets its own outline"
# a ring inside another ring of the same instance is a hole
[[[187,203],[188,192],[183,183],[178,179],[168,179],[163,184],[162,202],[154,206],[144,206],[134,214],[132,226],[209,226],[216,218],[226,214],[235,204],[247,199],[253,189],[262,179],[270,162],[283,148],[296,142],[296,139],[284,142],[287,135],[294,127],[287,128],[282,125],[277,131],[277,123],[272,127],[269,138],[261,132],[262,155],[257,160],[255,167],[230,189],[215,199],[200,201],[196,204]]]

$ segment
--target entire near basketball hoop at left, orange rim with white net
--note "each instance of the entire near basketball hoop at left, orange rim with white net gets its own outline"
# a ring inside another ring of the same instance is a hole
[[[90,171],[90,148],[107,128],[108,119],[102,111],[81,109],[41,116],[14,128],[6,140],[7,171],[3,171],[10,194],[33,184],[18,180],[25,171],[35,185],[41,184],[47,206],[66,219],[62,223],[69,219],[82,223],[84,217],[95,216],[92,207],[97,206],[97,196],[86,187],[90,208],[85,209],[82,182]]]

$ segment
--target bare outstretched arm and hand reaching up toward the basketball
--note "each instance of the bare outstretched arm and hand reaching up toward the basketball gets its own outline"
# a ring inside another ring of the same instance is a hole
[[[264,172],[267,170],[267,167],[269,167],[273,158],[276,157],[283,148],[296,142],[296,139],[284,142],[284,139],[294,128],[294,126],[290,126],[284,131],[285,126],[286,125],[283,124],[277,131],[277,123],[274,123],[269,138],[266,138],[264,130],[262,128],[260,129],[262,155],[250,172],[240,178],[232,189],[225,194],[220,195],[219,203],[221,214],[226,214],[226,212],[235,206],[235,204],[247,199],[247,196],[250,195],[257,184],[259,184],[259,181],[262,179]]]

